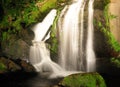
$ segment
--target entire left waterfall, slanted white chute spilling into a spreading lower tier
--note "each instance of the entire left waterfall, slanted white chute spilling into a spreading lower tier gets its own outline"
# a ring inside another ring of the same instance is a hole
[[[45,40],[49,38],[46,33],[49,31],[50,26],[53,24],[56,16],[56,10],[53,9],[45,17],[45,19],[35,25],[32,29],[35,37],[32,40],[33,45],[30,47],[30,62],[35,67],[37,72],[41,74],[49,75],[50,78],[63,77],[77,72],[67,72],[57,63],[53,62],[50,58],[50,52],[46,47]]]

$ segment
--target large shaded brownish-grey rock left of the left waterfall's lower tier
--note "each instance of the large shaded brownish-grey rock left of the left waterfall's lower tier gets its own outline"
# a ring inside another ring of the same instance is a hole
[[[29,45],[22,39],[10,39],[7,43],[2,42],[3,56],[12,59],[26,59],[29,57]]]

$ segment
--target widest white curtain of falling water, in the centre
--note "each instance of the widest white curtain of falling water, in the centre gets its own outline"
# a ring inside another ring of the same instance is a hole
[[[81,8],[84,9],[83,3],[84,2],[82,0],[79,0],[77,2],[73,2],[70,6],[66,6],[65,9],[63,9],[58,21],[58,28],[60,30],[59,49],[61,58],[59,63],[66,70],[77,70],[78,66],[83,66],[82,62],[78,62],[78,58],[80,56],[78,33],[80,25],[79,18],[80,13],[83,13],[81,10]],[[81,19],[82,18],[83,14],[81,14]],[[82,20],[81,22],[83,22]],[[83,27],[83,23],[81,23],[81,25]]]

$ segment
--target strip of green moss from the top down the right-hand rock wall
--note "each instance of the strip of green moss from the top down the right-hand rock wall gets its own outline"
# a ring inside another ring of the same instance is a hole
[[[103,11],[103,18],[101,18],[101,20],[99,21],[96,19],[96,21],[94,21],[94,24],[97,25],[97,27],[99,27],[99,29],[104,33],[107,43],[111,47],[111,50],[115,52],[120,52],[120,44],[115,39],[112,32],[110,32],[110,20],[115,19],[116,16],[108,12],[109,0],[105,0],[104,3],[105,6]]]

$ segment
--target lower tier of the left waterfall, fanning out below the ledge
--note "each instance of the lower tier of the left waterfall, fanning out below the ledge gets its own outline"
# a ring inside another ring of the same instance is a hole
[[[45,73],[59,73],[63,69],[50,59],[49,50],[44,41],[33,42],[30,48],[30,61],[36,68],[36,71]]]

